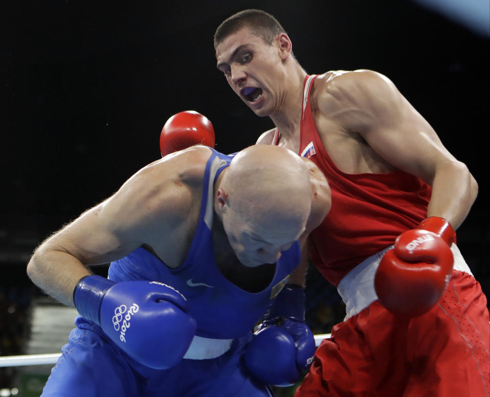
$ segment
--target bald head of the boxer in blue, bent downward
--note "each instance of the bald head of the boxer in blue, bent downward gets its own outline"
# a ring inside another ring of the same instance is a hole
[[[238,224],[268,242],[293,241],[304,231],[312,191],[308,168],[295,153],[272,145],[248,147],[231,161],[220,188],[226,193],[223,224],[229,236]]]

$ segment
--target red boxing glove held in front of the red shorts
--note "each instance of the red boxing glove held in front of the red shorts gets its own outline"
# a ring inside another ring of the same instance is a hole
[[[453,239],[449,222],[437,216],[398,236],[394,249],[384,254],[376,271],[374,287],[379,302],[406,317],[429,311],[449,283]]]

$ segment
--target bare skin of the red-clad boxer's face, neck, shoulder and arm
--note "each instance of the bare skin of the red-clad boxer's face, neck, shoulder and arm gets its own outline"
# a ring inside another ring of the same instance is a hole
[[[244,27],[217,45],[216,59],[242,101],[271,117],[279,145],[298,153],[306,71],[289,37],[281,33],[269,46]],[[243,95],[247,87],[262,90],[258,101]],[[478,185],[391,81],[371,70],[329,71],[315,80],[310,98],[318,133],[341,171],[411,173],[432,186],[427,216],[443,217],[454,229],[461,225]],[[257,143],[271,143],[273,135],[267,131]]]

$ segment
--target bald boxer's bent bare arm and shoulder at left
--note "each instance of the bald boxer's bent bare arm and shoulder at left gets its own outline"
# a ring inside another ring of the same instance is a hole
[[[202,155],[208,149],[193,148],[150,164],[113,196],[45,240],[27,267],[32,281],[61,303],[73,306],[72,293],[79,280],[90,274],[88,265],[117,260],[142,244],[153,247],[169,266],[180,264],[185,253],[179,250],[185,251],[185,244],[174,244],[171,239],[184,240],[188,232],[188,222],[182,220],[192,212],[191,189],[182,183],[181,174],[183,164],[195,164],[199,157],[189,151]],[[173,249],[166,250],[166,246]]]

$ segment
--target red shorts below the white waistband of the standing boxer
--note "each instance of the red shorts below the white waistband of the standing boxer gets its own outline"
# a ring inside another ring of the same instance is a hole
[[[488,396],[488,321],[480,284],[462,271],[420,317],[375,301],[322,341],[295,397]]]

